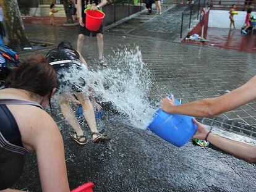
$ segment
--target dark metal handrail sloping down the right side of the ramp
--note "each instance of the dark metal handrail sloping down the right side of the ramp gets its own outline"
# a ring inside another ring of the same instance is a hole
[[[191,21],[192,19],[199,19],[199,13],[201,7],[206,7],[208,4],[207,0],[197,0],[194,2],[194,4],[187,7],[187,9],[182,11],[181,14],[181,33],[180,38],[182,38],[182,32],[184,30],[184,27],[191,27]],[[197,13],[197,14],[196,14]],[[188,20],[187,20],[188,19]]]

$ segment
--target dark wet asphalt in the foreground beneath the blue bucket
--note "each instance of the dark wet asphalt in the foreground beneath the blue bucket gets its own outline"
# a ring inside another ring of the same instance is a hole
[[[110,115],[103,120],[113,138],[108,144],[80,146],[61,124],[70,188],[95,183],[94,191],[255,191],[255,164],[218,149],[192,143],[182,148],[160,140],[148,130],[135,129]],[[83,129],[90,139],[88,128]],[[30,181],[30,182],[28,182]],[[33,182],[31,182],[33,181]],[[19,188],[40,191],[35,156],[30,155]]]

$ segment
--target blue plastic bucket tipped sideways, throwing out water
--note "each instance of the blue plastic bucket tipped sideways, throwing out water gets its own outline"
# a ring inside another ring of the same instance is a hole
[[[176,104],[180,104],[175,99]],[[192,117],[187,115],[168,114],[158,109],[148,129],[164,140],[177,147],[186,144],[197,131],[197,125],[192,122]]]

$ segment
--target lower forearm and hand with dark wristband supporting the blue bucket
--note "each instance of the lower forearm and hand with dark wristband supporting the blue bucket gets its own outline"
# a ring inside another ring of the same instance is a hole
[[[215,135],[212,132],[208,133],[209,131],[201,123],[197,122],[195,119],[193,119],[193,121],[198,127],[197,133],[195,133],[193,138],[205,140],[208,134],[207,141],[216,146],[216,148],[228,152],[233,156],[256,163],[256,146],[241,143],[239,141],[229,140],[227,138]]]

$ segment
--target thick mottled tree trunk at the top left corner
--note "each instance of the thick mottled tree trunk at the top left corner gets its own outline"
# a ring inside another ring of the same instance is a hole
[[[17,49],[17,46],[20,48],[30,47],[30,43],[25,34],[23,21],[20,17],[20,9],[17,0],[4,0],[2,8],[9,37],[8,45],[14,49]]]

